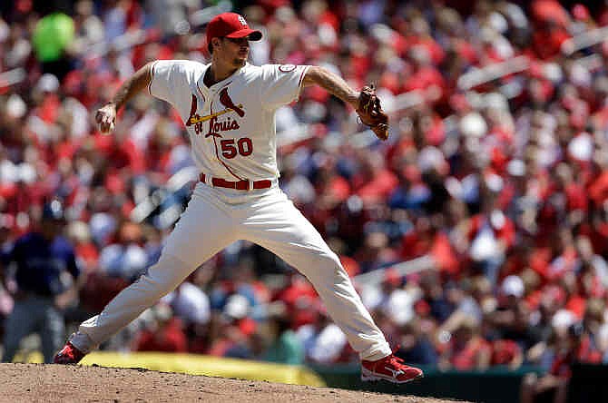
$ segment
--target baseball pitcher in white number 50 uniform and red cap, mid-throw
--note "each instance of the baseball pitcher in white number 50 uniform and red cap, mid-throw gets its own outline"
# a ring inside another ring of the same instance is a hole
[[[185,60],[146,64],[97,111],[104,133],[133,95],[148,91],[180,113],[201,170],[186,210],[169,235],[160,260],[103,311],[85,320],[54,359],[75,364],[192,270],[230,243],[255,242],[302,272],[329,315],[358,351],[362,379],[405,383],[423,376],[393,355],[382,332],[348,279],[338,256],[278,186],[274,115],[318,84],[352,105],[363,123],[387,139],[387,115],[373,87],[351,89],[336,74],[309,65],[247,63],[250,41],[261,39],[238,14],[217,15],[207,26],[211,64]]]

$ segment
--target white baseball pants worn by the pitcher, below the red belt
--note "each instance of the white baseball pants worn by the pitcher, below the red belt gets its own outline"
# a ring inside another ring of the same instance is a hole
[[[382,359],[391,353],[338,256],[276,184],[242,192],[198,183],[160,260],[102,313],[84,321],[72,343],[83,352],[94,349],[238,240],[259,244],[304,274],[361,359]]]

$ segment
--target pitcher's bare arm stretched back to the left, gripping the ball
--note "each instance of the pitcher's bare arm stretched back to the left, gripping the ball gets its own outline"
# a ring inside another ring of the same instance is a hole
[[[112,100],[95,113],[95,122],[99,124],[102,133],[113,131],[116,113],[128,103],[133,96],[142,91],[152,80],[152,63],[144,65],[121,85]]]

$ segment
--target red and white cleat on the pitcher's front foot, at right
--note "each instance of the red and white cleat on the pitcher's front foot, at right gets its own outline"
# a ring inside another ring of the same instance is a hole
[[[421,369],[407,366],[403,359],[390,354],[376,361],[361,361],[361,380],[387,380],[393,383],[407,383],[424,377]]]

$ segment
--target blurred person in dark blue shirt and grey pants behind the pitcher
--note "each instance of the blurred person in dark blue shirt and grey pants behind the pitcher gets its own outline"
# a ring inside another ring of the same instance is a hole
[[[54,200],[44,206],[37,231],[15,241],[2,259],[0,280],[15,278],[15,307],[5,323],[3,362],[11,362],[21,339],[37,332],[42,339],[44,362],[53,362],[61,347],[65,323],[57,297],[74,286],[80,274],[74,248],[62,235],[64,209]]]

